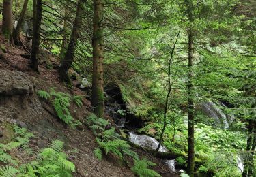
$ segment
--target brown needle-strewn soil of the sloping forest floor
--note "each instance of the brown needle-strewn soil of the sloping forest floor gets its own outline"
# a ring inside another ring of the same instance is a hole
[[[25,42],[25,40],[23,42],[27,46],[27,50],[29,50],[29,43]],[[70,93],[70,95],[85,95],[85,92],[79,88],[73,86],[68,89],[59,82],[56,69],[46,68],[46,61],[50,61],[53,65],[59,64],[46,51],[41,51],[44,54],[40,57],[40,74],[36,74],[29,68],[28,59],[21,56],[28,54],[24,47],[14,48],[8,46],[3,37],[0,37],[0,46],[1,50],[4,50],[4,52],[0,50],[0,72],[8,70],[10,74],[25,76],[27,80],[35,84],[36,90],[48,91],[50,88],[55,87],[56,91]],[[52,140],[62,140],[65,143],[68,159],[76,165],[74,176],[134,176],[130,167],[120,165],[115,158],[107,157],[102,161],[96,159],[93,150],[97,144],[88,127],[83,125],[79,129],[72,129],[64,125],[55,115],[51,105],[47,101],[40,99],[36,93],[0,98],[0,131],[3,131],[4,140],[12,137],[7,125],[19,121],[35,134],[35,138],[31,140],[31,146],[35,150],[45,148]],[[84,98],[82,108],[71,104],[70,110],[72,116],[83,123],[86,116],[91,112],[91,103]],[[150,153],[137,148],[134,148],[134,150],[140,157],[147,157],[150,161],[154,161],[157,164],[154,170],[162,176],[178,176],[174,172],[169,172],[167,166],[161,163],[160,159],[150,155]],[[16,150],[12,155],[14,157],[22,157],[23,163],[31,160],[31,157],[26,157],[22,150]]]

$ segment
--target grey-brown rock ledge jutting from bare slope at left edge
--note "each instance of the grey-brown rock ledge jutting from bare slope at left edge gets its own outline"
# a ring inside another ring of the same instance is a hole
[[[28,95],[35,91],[35,84],[23,72],[0,70],[0,76],[0,95]]]

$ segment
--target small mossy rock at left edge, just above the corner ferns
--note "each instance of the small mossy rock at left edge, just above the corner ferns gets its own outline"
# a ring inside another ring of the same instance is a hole
[[[0,143],[6,144],[14,142],[14,129],[12,123],[1,123],[0,130],[3,132],[3,137],[0,138]]]

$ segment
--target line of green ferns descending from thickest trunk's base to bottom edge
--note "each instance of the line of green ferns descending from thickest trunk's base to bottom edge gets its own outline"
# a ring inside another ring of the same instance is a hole
[[[87,125],[96,135],[96,142],[98,147],[94,150],[94,155],[98,159],[102,159],[104,155],[109,153],[113,154],[118,159],[121,159],[124,163],[129,163],[127,157],[133,159],[134,166],[132,172],[140,177],[158,177],[160,174],[151,170],[149,167],[156,165],[155,163],[148,161],[147,159],[139,159],[136,152],[130,149],[130,144],[126,140],[121,139],[121,135],[115,132],[115,128],[108,127],[109,122],[102,118],[98,118],[96,115],[91,114],[87,118]]]

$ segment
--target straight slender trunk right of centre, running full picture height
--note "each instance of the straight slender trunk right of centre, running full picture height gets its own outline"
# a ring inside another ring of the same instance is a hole
[[[188,4],[188,174],[194,176],[195,140],[194,140],[194,100],[193,100],[193,1]]]

